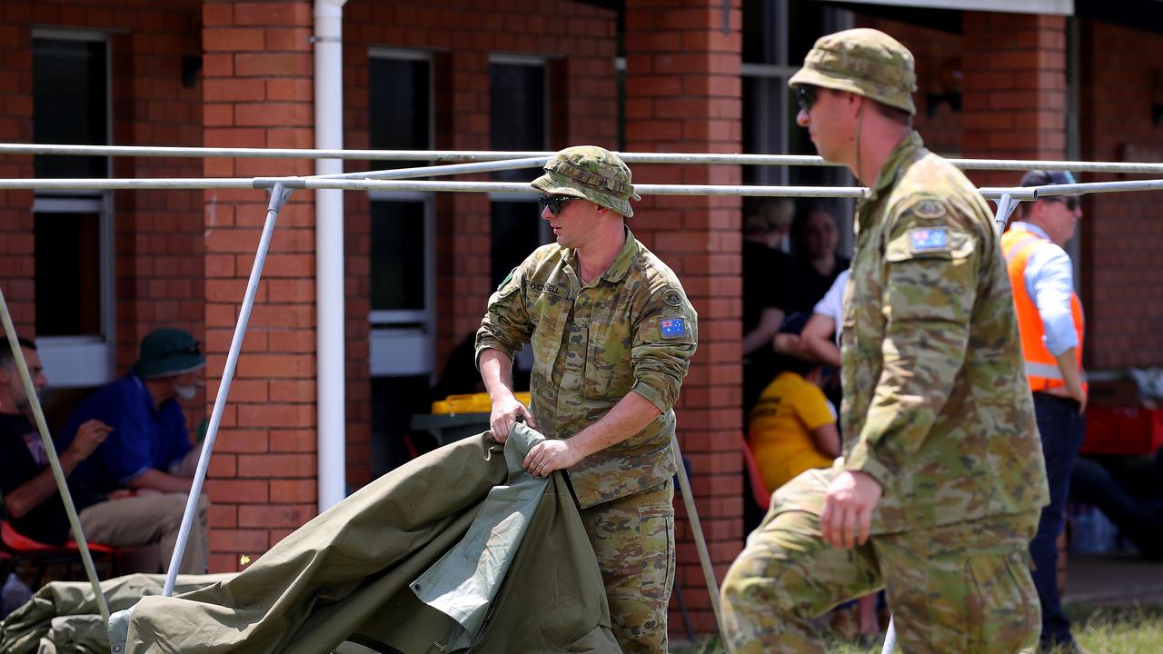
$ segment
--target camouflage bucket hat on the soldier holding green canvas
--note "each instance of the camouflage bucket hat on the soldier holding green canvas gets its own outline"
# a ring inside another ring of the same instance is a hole
[[[547,196],[590,200],[626,218],[634,215],[630,200],[642,199],[630,185],[630,169],[618,155],[597,145],[575,145],[557,152],[545,164],[545,175],[530,186]]]

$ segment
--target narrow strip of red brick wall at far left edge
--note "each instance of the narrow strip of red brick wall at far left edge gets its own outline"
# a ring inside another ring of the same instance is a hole
[[[31,2],[0,5],[0,141],[33,141]],[[0,158],[0,178],[33,177],[31,156]],[[0,287],[12,321],[23,336],[36,322],[33,237],[33,192],[0,191]],[[7,347],[0,328],[0,347]]]

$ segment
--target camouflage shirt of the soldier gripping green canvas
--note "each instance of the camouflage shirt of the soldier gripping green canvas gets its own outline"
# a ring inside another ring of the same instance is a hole
[[[678,390],[698,342],[698,317],[678,277],[626,230],[600,277],[582,285],[577,253],[534,250],[488,299],[477,332],[513,358],[533,344],[529,410],[541,433],[568,439],[630,391],[661,415],[570,468],[583,509],[656,486],[677,471],[670,445]]]

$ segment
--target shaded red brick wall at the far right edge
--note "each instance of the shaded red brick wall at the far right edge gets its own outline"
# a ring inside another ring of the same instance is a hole
[[[1082,158],[1163,163],[1163,35],[1082,23]],[[1083,175],[1082,182],[1161,179]],[[1079,223],[1086,363],[1091,368],[1163,365],[1163,239],[1160,192],[1106,193],[1083,202]]]

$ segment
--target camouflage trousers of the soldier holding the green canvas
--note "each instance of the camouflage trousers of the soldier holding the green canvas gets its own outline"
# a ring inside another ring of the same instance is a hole
[[[664,482],[582,511],[606,583],[609,620],[626,654],[666,653],[675,585],[675,488]]]

